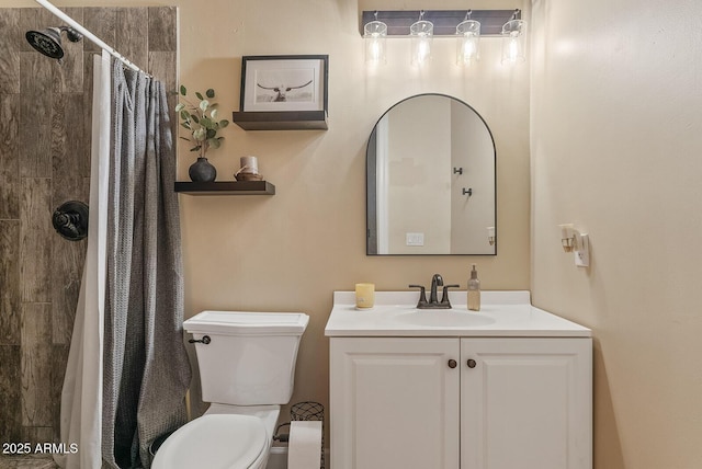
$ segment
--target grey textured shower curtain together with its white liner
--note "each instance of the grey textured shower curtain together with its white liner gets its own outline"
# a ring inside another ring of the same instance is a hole
[[[105,53],[94,67],[89,255],[61,397],[61,441],[79,451],[57,462],[149,468],[149,445],[186,421],[191,378],[173,140],[162,82]]]

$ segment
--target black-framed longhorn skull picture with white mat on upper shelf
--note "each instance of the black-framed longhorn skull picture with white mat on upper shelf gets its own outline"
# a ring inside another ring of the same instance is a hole
[[[328,55],[244,56],[241,112],[327,112]]]

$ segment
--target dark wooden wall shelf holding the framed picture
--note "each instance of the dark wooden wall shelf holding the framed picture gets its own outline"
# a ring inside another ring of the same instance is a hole
[[[238,112],[231,121],[245,130],[327,130],[326,111]]]

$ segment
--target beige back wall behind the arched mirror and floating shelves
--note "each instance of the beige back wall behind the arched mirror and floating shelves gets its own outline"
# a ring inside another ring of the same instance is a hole
[[[104,5],[64,0],[61,7]],[[120,5],[180,8],[180,77],[190,89],[215,88],[223,110],[238,107],[242,55],[328,54],[328,131],[244,131],[230,126],[212,153],[220,180],[231,180],[239,157],[259,157],[276,186],[268,196],[181,196],[188,316],[203,309],[299,310],[312,316],[297,367],[293,402],[328,401],[328,341],[324,327],[335,289],[374,282],[407,289],[441,273],[465,288],[472,262],[486,289],[528,289],[529,68],[501,67],[499,43],[484,39],[482,61],[454,66],[454,44],[435,39],[433,64],[408,65],[407,42],[388,41],[388,65],[366,70],[359,16],[362,9],[397,2],[353,0],[122,0]],[[0,0],[0,7],[35,7]],[[408,9],[426,2],[404,1]],[[432,8],[462,9],[461,0]],[[521,7],[522,0],[480,0],[471,8]],[[490,126],[498,160],[498,256],[367,258],[365,255],[365,145],[383,112],[411,94],[440,92],[471,104]],[[180,176],[193,161],[180,155]]]

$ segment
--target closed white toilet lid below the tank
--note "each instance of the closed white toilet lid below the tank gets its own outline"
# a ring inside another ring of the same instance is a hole
[[[156,453],[154,468],[247,469],[268,449],[261,419],[208,414],[181,426]]]

